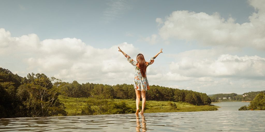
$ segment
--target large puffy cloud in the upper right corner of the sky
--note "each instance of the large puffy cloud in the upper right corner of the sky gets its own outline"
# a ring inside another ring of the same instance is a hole
[[[250,22],[235,23],[232,17],[225,20],[219,13],[209,15],[204,12],[174,11],[164,21],[159,35],[165,40],[196,40],[204,45],[265,50],[265,1],[249,3],[258,11],[249,16]]]

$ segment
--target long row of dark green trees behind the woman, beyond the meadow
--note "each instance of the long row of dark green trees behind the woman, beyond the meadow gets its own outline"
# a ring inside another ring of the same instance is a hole
[[[82,83],[77,81],[72,83],[56,82],[58,86],[63,86],[67,97],[94,97],[95,92],[99,92],[97,87],[102,87],[101,92],[108,99],[135,99],[135,90],[133,84],[94,84]],[[175,101],[187,102],[193,105],[206,105],[211,103],[210,97],[206,93],[195,92],[191,90],[181,90],[175,88],[162,87],[158,85],[150,86],[150,90],[146,92],[147,100],[155,101]]]

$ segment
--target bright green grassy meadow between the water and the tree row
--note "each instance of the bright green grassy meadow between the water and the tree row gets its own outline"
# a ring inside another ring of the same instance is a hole
[[[89,101],[89,98],[69,98],[59,96],[61,102],[64,103],[68,116],[76,116],[81,115],[82,108],[85,107],[86,102]],[[136,109],[135,100],[127,99],[120,100],[114,99],[114,102],[125,101],[130,107]],[[173,109],[170,105],[171,103],[175,103],[177,108]],[[142,101],[140,102],[140,107],[142,106]],[[196,106],[191,105],[186,102],[172,102],[172,101],[146,101],[145,105],[145,113],[157,113],[157,112],[191,112],[191,111],[214,111],[218,110],[218,106],[214,105],[203,105]]]

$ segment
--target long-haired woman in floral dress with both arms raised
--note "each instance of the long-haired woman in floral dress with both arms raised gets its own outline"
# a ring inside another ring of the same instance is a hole
[[[149,84],[146,78],[146,68],[148,65],[154,63],[154,59],[160,54],[163,53],[161,49],[155,56],[153,56],[148,62],[145,62],[143,54],[138,54],[136,61],[131,59],[131,57],[125,54],[120,47],[119,51],[127,58],[128,62],[130,62],[135,67],[135,75],[134,75],[134,89],[136,93],[136,113],[135,114],[143,114],[144,107],[145,107],[145,91],[149,90]],[[140,96],[142,96],[142,110],[139,112],[139,103],[140,103]]]

